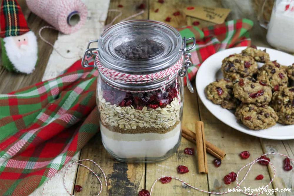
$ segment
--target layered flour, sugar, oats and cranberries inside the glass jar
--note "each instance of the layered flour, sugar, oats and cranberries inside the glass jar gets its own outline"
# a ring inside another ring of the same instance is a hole
[[[175,148],[181,133],[181,103],[176,85],[166,92],[128,93],[98,89],[103,144],[120,158],[162,157]]]

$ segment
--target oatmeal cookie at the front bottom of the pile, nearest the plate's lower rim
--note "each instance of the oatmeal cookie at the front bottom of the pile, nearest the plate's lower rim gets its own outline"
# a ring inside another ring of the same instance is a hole
[[[270,106],[258,107],[254,104],[242,104],[235,112],[236,118],[253,130],[266,129],[278,120],[278,115]]]

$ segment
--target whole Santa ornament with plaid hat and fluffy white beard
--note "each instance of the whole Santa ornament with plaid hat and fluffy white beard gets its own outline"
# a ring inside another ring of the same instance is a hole
[[[0,13],[1,61],[8,71],[32,73],[38,60],[35,34],[16,0],[3,0]]]

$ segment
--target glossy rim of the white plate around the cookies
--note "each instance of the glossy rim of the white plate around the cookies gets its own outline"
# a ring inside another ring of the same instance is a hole
[[[220,55],[220,53],[222,52],[230,52],[232,51],[231,53],[240,53],[241,50],[245,49],[246,46],[242,46],[242,47],[234,47],[234,48],[229,48],[229,49],[225,49],[223,51],[219,51],[217,53],[214,53],[213,55],[209,56],[205,61],[203,61],[203,63],[201,64],[201,66],[199,67],[198,71],[197,71],[197,74],[196,74],[196,80],[195,80],[195,83],[196,83],[196,90],[197,90],[197,94],[199,96],[199,98],[201,99],[203,105],[208,109],[208,111],[210,111],[218,120],[220,120],[221,122],[225,123],[226,125],[230,126],[231,128],[234,128],[235,130],[238,130],[238,131],[241,131],[243,133],[246,133],[248,135],[253,135],[253,136],[256,136],[256,137],[259,137],[259,138],[265,138],[265,139],[273,139],[273,140],[288,140],[288,139],[294,139],[294,133],[293,135],[289,135],[289,136],[279,136],[279,135],[276,135],[276,136],[267,136],[267,135],[264,135],[264,134],[260,134],[258,130],[250,130],[249,128],[245,128],[243,126],[240,125],[240,123],[238,123],[238,126],[235,126],[233,123],[230,122],[230,120],[223,120],[222,118],[220,118],[219,116],[217,116],[216,114],[213,113],[213,108],[211,108],[210,106],[207,105],[208,101],[210,102],[210,100],[208,100],[205,96],[205,93],[204,93],[204,89],[200,89],[199,85],[201,83],[201,78],[200,77],[197,77],[199,76],[201,73],[201,70],[203,70],[204,66],[208,66],[208,65],[204,65],[202,66],[203,64],[205,64],[205,62],[208,62],[208,61],[211,61],[211,59],[213,59],[216,55]],[[266,49],[267,51],[278,51],[278,50],[275,50],[275,49],[272,49],[272,48],[266,48],[266,47],[258,47],[258,48],[261,48],[261,49]],[[285,52],[282,52],[282,51],[278,51],[280,53],[284,53],[286,56],[291,56],[294,58],[294,56],[288,54],[288,53],[285,53]],[[224,56],[225,58],[225,56]],[[271,58],[272,60],[272,58]],[[199,79],[200,78],[200,79]],[[211,83],[213,81],[209,81],[209,83]],[[216,105],[216,104],[214,104]],[[216,105],[218,107],[220,107],[220,105]],[[220,107],[221,108],[221,107]],[[221,108],[222,110],[227,110],[225,108]],[[236,120],[236,119],[234,119]],[[294,131],[294,125],[285,125],[287,126],[287,129],[288,128],[292,128],[293,127],[293,131]],[[278,131],[278,130],[277,130]]]

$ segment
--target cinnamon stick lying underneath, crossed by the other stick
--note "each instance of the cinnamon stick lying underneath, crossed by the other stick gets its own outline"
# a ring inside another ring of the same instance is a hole
[[[190,142],[196,144],[196,135],[193,131],[188,130],[187,128],[182,128],[182,136],[189,140]],[[205,141],[205,146],[206,146],[206,152],[209,154],[213,155],[214,157],[223,160],[225,157],[225,152],[221,150],[220,148],[216,147],[212,143]]]

